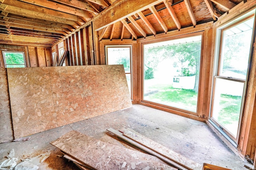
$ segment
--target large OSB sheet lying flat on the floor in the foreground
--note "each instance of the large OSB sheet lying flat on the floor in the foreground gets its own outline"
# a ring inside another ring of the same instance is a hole
[[[51,144],[95,169],[176,169],[155,156],[105,143],[77,131],[70,131]]]

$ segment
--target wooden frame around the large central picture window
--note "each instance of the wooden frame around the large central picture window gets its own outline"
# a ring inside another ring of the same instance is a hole
[[[158,42],[162,42],[162,41],[170,41],[170,40],[175,40],[175,39],[183,39],[183,38],[187,38],[187,37],[194,37],[194,36],[198,36],[201,35],[201,55],[200,55],[200,73],[199,73],[199,84],[198,84],[198,99],[197,99],[197,108],[196,108],[196,112],[194,111],[189,111],[189,110],[185,110],[185,109],[180,109],[178,107],[173,107],[173,106],[167,106],[164,104],[159,104],[156,102],[152,102],[152,101],[148,101],[148,100],[144,100],[144,45],[147,44],[151,44],[151,43],[158,43]],[[200,98],[200,96],[203,93],[203,90],[200,88],[201,84],[202,84],[202,67],[203,67],[203,61],[204,61],[204,57],[203,57],[203,46],[204,46],[204,30],[202,31],[198,31],[198,32],[193,32],[193,33],[187,33],[185,35],[176,35],[176,36],[171,36],[171,37],[166,37],[166,38],[160,38],[160,39],[156,39],[156,40],[152,40],[152,41],[146,41],[146,42],[142,42],[141,43],[141,82],[140,82],[140,86],[141,86],[141,91],[140,91],[140,102],[142,102],[142,104],[148,104],[150,106],[156,106],[156,108],[165,108],[168,110],[172,110],[174,111],[174,113],[178,113],[178,114],[183,114],[185,113],[186,115],[194,115],[194,116],[199,116],[199,110],[202,107],[201,105],[203,105],[202,99]]]

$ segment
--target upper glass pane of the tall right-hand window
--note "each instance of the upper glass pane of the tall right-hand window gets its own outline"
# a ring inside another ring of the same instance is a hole
[[[254,18],[223,31],[220,76],[246,79]]]

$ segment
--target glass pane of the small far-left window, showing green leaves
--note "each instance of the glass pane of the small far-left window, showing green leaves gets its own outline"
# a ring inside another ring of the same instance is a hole
[[[25,64],[23,53],[4,52],[6,64]]]

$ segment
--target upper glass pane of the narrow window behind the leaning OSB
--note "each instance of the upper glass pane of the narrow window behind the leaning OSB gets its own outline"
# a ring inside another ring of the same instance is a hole
[[[130,73],[130,48],[108,47],[108,64],[123,64],[126,73]]]

